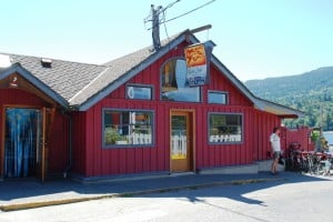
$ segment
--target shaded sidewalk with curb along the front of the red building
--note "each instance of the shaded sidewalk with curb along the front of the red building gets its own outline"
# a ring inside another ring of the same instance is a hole
[[[133,196],[185,189],[212,188],[270,181],[284,181],[295,173],[256,174],[171,174],[161,178],[137,178],[100,183],[78,183],[70,179],[0,181],[0,210],[13,211],[65,204],[102,198]]]

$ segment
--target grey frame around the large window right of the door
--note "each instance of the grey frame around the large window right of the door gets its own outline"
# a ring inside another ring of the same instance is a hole
[[[210,134],[210,130],[211,130],[211,115],[214,115],[214,114],[219,114],[219,115],[239,115],[239,117],[241,117],[242,118],[242,120],[241,120],[241,123],[242,123],[242,129],[241,129],[241,141],[235,141],[235,142],[232,142],[232,141],[226,141],[226,142],[211,142],[211,140],[210,140],[210,137],[211,137],[211,134]],[[244,143],[244,114],[243,113],[241,113],[241,112],[208,112],[208,137],[206,137],[206,139],[208,139],[208,143],[210,144],[210,145],[214,145],[214,144],[243,144]]]

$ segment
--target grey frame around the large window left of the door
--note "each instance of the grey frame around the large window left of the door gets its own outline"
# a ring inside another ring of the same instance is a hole
[[[151,114],[151,143],[149,144],[105,144],[105,135],[104,135],[104,129],[105,129],[105,111],[111,112],[149,112]],[[117,109],[117,108],[103,108],[102,109],[102,149],[119,149],[119,148],[152,148],[155,147],[155,111],[154,110],[147,110],[147,109]]]

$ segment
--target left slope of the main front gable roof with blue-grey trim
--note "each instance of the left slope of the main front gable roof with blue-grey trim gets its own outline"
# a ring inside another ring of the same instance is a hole
[[[124,84],[128,80],[151,65],[162,56],[167,54],[185,40],[184,34],[161,42],[159,51],[152,51],[150,47],[107,62],[108,70],[93,80],[84,90],[71,99],[72,105],[78,105],[80,111],[85,111],[98,101],[107,97],[113,90]]]

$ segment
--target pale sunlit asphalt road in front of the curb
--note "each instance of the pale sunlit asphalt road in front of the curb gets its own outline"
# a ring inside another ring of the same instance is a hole
[[[332,200],[332,178],[307,178],[0,212],[0,221],[333,221]]]

